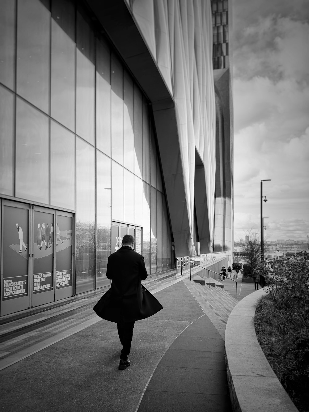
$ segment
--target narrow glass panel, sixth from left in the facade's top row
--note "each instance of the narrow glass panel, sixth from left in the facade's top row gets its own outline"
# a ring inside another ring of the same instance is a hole
[[[123,70],[112,54],[112,158],[123,164]]]

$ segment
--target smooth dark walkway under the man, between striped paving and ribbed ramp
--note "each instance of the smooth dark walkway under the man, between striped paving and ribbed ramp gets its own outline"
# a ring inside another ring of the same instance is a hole
[[[180,281],[136,322],[131,366],[117,369],[117,326],[97,323],[0,371],[3,411],[229,411],[224,340]]]

